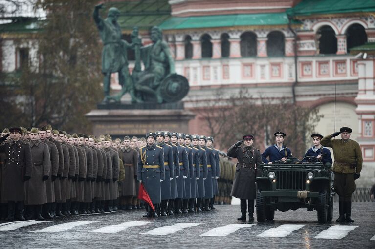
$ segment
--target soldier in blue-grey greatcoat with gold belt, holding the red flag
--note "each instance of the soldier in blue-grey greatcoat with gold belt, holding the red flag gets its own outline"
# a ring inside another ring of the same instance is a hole
[[[161,202],[160,182],[164,180],[164,150],[155,144],[156,134],[146,134],[147,145],[139,149],[137,180],[143,185],[150,196],[154,209]],[[151,207],[143,217],[157,217]]]

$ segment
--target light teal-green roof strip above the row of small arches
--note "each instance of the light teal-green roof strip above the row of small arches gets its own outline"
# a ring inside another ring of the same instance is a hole
[[[294,22],[295,23],[295,22]],[[233,14],[198,17],[171,17],[159,25],[163,30],[218,28],[234,26],[287,25],[285,12],[260,14]]]

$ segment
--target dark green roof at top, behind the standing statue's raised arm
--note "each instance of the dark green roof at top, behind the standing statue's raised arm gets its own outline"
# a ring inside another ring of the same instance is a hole
[[[168,0],[109,2],[105,5],[106,9],[101,11],[103,15],[107,15],[110,7],[119,9],[121,15],[118,23],[122,30],[131,30],[134,26],[140,30],[149,30],[171,16]]]

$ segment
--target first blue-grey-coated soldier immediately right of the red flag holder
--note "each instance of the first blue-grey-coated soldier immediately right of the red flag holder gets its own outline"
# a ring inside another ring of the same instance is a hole
[[[164,150],[164,181],[160,183],[161,188],[161,208],[160,215],[167,216],[167,205],[168,200],[171,199],[171,181],[175,178],[173,175],[174,164],[173,164],[173,149],[172,146],[164,142],[164,132],[156,132],[156,145],[160,146]]]

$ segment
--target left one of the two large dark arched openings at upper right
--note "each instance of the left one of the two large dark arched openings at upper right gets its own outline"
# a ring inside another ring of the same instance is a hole
[[[337,38],[334,30],[330,26],[322,26],[318,30],[319,38],[319,54],[336,54]]]

